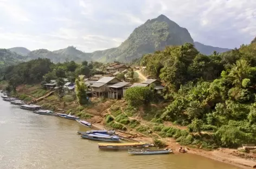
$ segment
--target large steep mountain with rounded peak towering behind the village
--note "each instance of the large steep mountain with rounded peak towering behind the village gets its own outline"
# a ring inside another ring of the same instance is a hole
[[[188,30],[168,17],[160,15],[136,28],[119,47],[94,51],[92,60],[127,62],[144,54],[162,50],[165,46],[182,45],[185,42],[194,43]]]

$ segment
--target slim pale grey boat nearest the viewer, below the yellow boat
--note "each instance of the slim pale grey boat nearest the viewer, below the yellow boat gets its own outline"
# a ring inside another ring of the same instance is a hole
[[[128,150],[128,153],[134,155],[170,154],[172,150],[167,148],[162,150]]]

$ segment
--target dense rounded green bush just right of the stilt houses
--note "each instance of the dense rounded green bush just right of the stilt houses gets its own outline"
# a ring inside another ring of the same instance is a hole
[[[149,87],[132,87],[125,92],[125,100],[131,106],[148,105],[152,101],[152,90]]]

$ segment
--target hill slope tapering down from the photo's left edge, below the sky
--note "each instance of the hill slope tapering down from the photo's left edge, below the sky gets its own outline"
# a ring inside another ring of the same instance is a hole
[[[24,56],[8,49],[0,49],[0,68],[10,66],[24,60]]]

